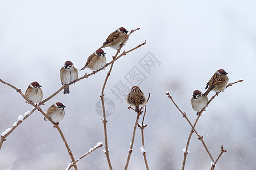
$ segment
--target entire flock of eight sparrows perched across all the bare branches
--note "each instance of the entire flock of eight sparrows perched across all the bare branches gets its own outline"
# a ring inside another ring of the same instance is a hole
[[[105,52],[102,50],[102,48],[105,48],[107,46],[119,49],[120,46],[125,45],[126,41],[128,40],[129,36],[127,35],[127,30],[123,27],[118,28],[116,31],[112,32],[106,41],[103,43],[101,48],[97,49],[96,52],[91,54],[87,62],[85,63],[85,66],[82,67],[81,70],[84,70],[85,68],[89,68],[92,71],[96,71],[99,69],[102,69],[106,65],[106,57]],[[207,91],[203,94],[199,90],[195,90],[193,92],[193,97],[191,99],[191,105],[192,108],[197,112],[197,115],[199,112],[207,106],[208,103],[208,97],[210,91],[220,92],[223,91],[227,84],[228,84],[228,76],[226,76],[228,73],[226,73],[225,70],[219,69],[214,73],[212,78],[210,78],[209,82],[207,83],[207,86],[205,89]],[[60,69],[60,81],[61,84],[69,84],[71,82],[74,82],[78,78],[78,70],[74,67],[73,63],[71,61],[66,61],[64,63],[64,67]],[[43,91],[41,89],[42,86],[38,82],[32,82],[28,86],[25,96],[28,100],[32,101],[34,104],[38,104],[43,99]],[[69,86],[64,88],[64,94],[69,94]],[[138,86],[134,86],[131,88],[131,91],[126,97],[127,104],[130,106],[135,107],[135,111],[139,112],[140,106],[144,106],[146,104],[146,97],[144,96],[143,92]],[[65,115],[65,105],[63,105],[60,102],[57,102],[51,107],[47,109],[47,116],[51,118],[51,120],[55,123],[59,123],[61,120],[63,120]],[[44,117],[44,120],[48,120],[48,118]]]

